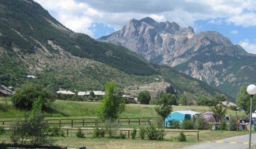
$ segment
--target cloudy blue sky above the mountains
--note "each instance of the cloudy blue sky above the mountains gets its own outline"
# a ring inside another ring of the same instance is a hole
[[[34,0],[69,29],[100,38],[131,19],[191,26],[195,33],[218,31],[256,54],[256,0]]]

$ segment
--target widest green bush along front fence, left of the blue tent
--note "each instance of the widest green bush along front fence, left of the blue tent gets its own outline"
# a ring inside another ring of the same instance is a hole
[[[153,125],[147,127],[146,131],[149,140],[163,140],[163,137],[165,135],[165,130],[157,130],[156,127]]]

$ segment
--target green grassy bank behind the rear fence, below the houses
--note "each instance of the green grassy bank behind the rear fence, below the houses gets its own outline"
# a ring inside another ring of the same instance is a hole
[[[96,118],[96,110],[100,103],[98,102],[71,102],[56,100],[53,103],[47,104],[44,107],[46,118]],[[125,112],[120,115],[120,118],[141,118],[141,117],[157,117],[154,110],[155,105],[143,104],[126,104]],[[2,108],[2,110],[1,110]],[[173,106],[173,111],[177,110],[192,110],[197,112],[208,111],[207,106]],[[10,98],[0,98],[0,120],[16,118],[17,116],[24,117],[25,113],[30,111],[19,110],[12,106]],[[226,115],[235,116],[236,111],[227,110]],[[244,112],[237,112],[238,115],[245,115]]]

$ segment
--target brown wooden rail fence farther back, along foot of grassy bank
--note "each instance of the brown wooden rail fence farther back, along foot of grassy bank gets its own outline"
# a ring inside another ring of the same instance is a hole
[[[146,125],[150,124],[152,119],[157,119],[158,117],[150,118],[118,118],[116,123],[118,125]],[[98,126],[103,123],[98,118],[76,118],[76,119],[46,119],[48,125],[57,125],[61,126]],[[15,121],[0,121],[3,126],[11,125]],[[22,122],[22,121],[20,121]],[[68,125],[69,124],[69,125]],[[80,125],[78,125],[80,124]],[[91,124],[91,125],[90,125]]]

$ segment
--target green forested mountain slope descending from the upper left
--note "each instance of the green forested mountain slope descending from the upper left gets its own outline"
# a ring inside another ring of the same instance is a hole
[[[1,85],[19,87],[32,81],[83,91],[104,90],[108,81],[120,88],[166,81],[177,96],[186,93],[191,100],[222,93],[169,66],[151,64],[125,47],[74,33],[34,1],[1,0],[0,8]]]

